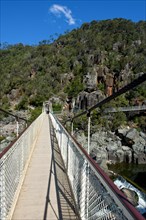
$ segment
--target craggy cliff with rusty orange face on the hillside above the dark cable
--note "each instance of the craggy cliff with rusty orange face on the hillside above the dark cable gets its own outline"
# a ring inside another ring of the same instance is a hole
[[[83,84],[85,89],[78,94],[77,98],[79,108],[86,109],[106,96],[112,95],[113,92],[130,83],[132,77],[133,74],[129,63],[125,65],[125,68],[118,75],[105,65],[94,64],[84,76]]]

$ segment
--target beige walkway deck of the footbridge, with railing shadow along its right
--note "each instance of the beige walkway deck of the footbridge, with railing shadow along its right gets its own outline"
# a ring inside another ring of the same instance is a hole
[[[13,220],[78,219],[53,128],[45,116]]]

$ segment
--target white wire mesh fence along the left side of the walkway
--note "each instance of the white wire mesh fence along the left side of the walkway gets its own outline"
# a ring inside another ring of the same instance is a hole
[[[33,151],[43,121],[42,113],[18,138],[0,153],[0,220],[7,219],[19,194],[19,184]]]

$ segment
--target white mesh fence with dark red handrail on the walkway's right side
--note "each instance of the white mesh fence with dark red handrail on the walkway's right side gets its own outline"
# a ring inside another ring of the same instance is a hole
[[[92,196],[90,196],[91,194],[93,194],[93,198],[96,201],[97,197],[104,198],[102,203],[105,204],[104,209],[106,209],[107,213],[103,215],[103,219],[105,215],[106,217],[112,216],[110,219],[144,219],[83,147],[66,131],[57,118],[51,113],[50,118],[81,219],[97,219],[96,215],[101,212],[97,207],[99,205],[98,202],[97,204],[94,203]],[[99,188],[102,191],[101,194],[98,191]],[[111,204],[109,204],[109,201],[111,201]],[[91,207],[94,208],[91,209]],[[98,211],[95,212],[95,209]]]

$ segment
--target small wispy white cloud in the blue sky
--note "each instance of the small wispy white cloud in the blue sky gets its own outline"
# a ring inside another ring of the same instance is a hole
[[[72,11],[66,6],[52,5],[49,11],[59,17],[63,14],[67,18],[66,22],[69,25],[75,24],[75,19],[72,17]]]

